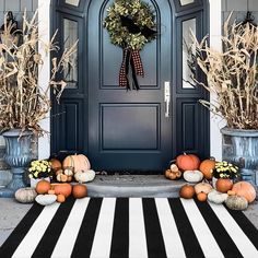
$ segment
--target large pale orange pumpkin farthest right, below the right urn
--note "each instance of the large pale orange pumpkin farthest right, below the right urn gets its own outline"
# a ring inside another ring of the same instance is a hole
[[[238,181],[234,184],[232,190],[235,191],[236,196],[245,197],[249,203],[256,199],[256,189],[248,181]]]

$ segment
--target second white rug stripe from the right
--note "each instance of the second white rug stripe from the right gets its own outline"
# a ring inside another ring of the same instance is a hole
[[[198,207],[194,200],[186,200],[180,198],[183,207],[187,213],[188,220],[195,231],[197,239],[206,257],[224,257],[221,248],[216,244],[209,226],[202,218]]]

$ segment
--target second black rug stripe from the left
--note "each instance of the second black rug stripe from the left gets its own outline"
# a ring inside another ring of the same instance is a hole
[[[68,198],[66,202],[61,203],[55,213],[51,222],[47,226],[42,239],[39,241],[36,249],[34,250],[32,257],[50,257],[57,241],[61,234],[61,231],[67,222],[67,219],[71,212],[74,204],[74,198]]]

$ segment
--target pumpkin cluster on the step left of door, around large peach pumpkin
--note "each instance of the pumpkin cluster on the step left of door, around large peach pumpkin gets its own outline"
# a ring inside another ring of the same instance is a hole
[[[77,181],[86,183],[95,178],[95,172],[91,169],[90,161],[83,154],[69,155],[62,163],[57,159],[50,162],[57,181],[69,183],[74,178]]]

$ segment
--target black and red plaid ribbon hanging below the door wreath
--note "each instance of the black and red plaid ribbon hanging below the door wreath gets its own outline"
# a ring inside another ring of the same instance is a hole
[[[131,90],[129,82],[129,69],[131,66],[132,85],[133,89],[139,90],[137,75],[144,77],[143,66],[139,50],[124,49],[122,62],[119,72],[119,86],[126,86],[127,90]]]

